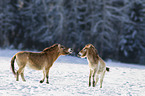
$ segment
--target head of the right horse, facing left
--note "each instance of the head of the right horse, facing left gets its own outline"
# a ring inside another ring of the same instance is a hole
[[[78,57],[85,58],[89,50],[94,50],[94,46],[92,44],[87,44],[79,53]]]

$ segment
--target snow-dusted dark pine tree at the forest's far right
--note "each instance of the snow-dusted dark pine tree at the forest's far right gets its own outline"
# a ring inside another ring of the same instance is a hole
[[[140,53],[142,52],[143,43],[141,43],[143,33],[143,5],[139,2],[134,2],[129,10],[130,22],[125,24],[125,32],[122,35],[121,50],[127,62],[139,62]],[[142,46],[142,48],[141,48]],[[144,49],[144,48],[143,48]],[[125,59],[122,58],[122,59]]]

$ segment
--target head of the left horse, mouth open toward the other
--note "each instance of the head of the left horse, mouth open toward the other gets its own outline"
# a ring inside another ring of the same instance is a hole
[[[59,49],[59,52],[61,55],[68,55],[68,54],[71,54],[73,52],[72,48],[64,47],[61,44],[58,44],[58,49]]]

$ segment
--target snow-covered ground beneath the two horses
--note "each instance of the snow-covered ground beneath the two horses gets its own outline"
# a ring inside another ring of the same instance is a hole
[[[16,52],[0,49],[0,96],[145,96],[145,66],[107,61],[110,72],[100,89],[99,83],[88,87],[86,59],[60,56],[50,69],[50,84],[40,84],[42,71],[29,68],[24,72],[26,82],[15,81],[10,60]]]

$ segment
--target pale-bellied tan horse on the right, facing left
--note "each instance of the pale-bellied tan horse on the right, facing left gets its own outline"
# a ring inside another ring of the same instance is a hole
[[[105,76],[105,72],[106,70],[109,71],[109,68],[106,67],[105,62],[98,55],[97,49],[92,44],[88,44],[79,52],[78,56],[81,58],[87,57],[90,68],[89,86],[91,86],[91,77],[93,76],[93,87],[95,87],[100,75],[100,88],[102,88],[102,82]],[[94,79],[95,75],[96,82]]]

